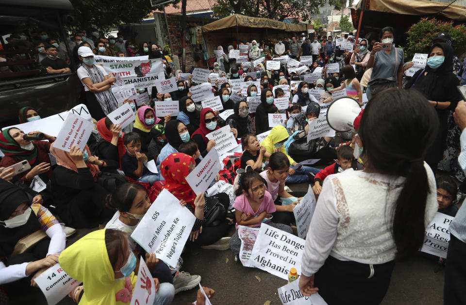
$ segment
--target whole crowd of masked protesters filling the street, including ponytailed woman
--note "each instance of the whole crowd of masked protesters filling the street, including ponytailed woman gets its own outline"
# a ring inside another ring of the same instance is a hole
[[[194,67],[189,80],[182,80],[183,71],[156,44],[80,30],[66,37],[68,50],[47,32],[12,34],[8,48],[35,49],[44,73],[71,72],[71,59],[79,64],[77,74],[95,129],[83,150],[73,146],[67,152],[54,146],[54,136],[30,141],[21,128],[2,128],[0,304],[36,286],[34,279],[56,263],[83,282],[70,292],[73,301],[128,304],[141,256],[154,278],[154,304],[170,304],[176,293],[197,288],[200,275],[182,271],[182,258],[177,266],[167,265],[131,238],[162,190],[196,217],[185,247],[231,249],[239,260],[238,225],[266,223],[297,234],[293,209],[306,193],[292,192],[289,186],[295,183],[310,184],[318,198],[301,262],[301,292],[318,291],[330,305],[381,303],[395,261],[417,253],[434,214],[455,216],[455,204],[466,193],[466,105],[456,89],[466,82],[465,64],[461,67],[454,55],[449,34],[438,33],[425,68],[407,77],[413,62],[395,47],[399,34],[386,27],[363,39],[303,33],[273,43],[239,42],[225,46],[227,52],[218,46],[221,55],[209,82],[222,110],[195,101],[190,91],[198,85],[192,80]],[[342,49],[335,43],[339,38],[353,47]],[[387,44],[392,47],[382,48]],[[239,45],[248,45],[242,55],[248,56],[249,65],[229,56]],[[161,94],[155,86],[139,89],[138,94],[150,91],[150,100],[142,106],[124,100],[135,121],[122,128],[107,116],[122,105],[111,90],[116,78],[96,64],[95,55],[160,59],[165,78],[177,80],[175,90]],[[280,68],[266,69],[267,61],[279,62]],[[290,66],[293,61],[301,72]],[[328,64],[338,64],[338,72],[329,73]],[[12,65],[11,70],[22,68]],[[227,82],[220,85],[219,78]],[[230,80],[248,82],[247,90],[237,90]],[[354,129],[308,141],[310,126],[325,116],[322,110],[342,90],[365,108]],[[287,98],[286,109],[275,105],[280,97]],[[156,116],[154,102],[176,100],[177,117]],[[453,116],[455,109],[459,111]],[[226,111],[232,114],[222,117]],[[273,113],[285,114],[286,120],[271,127]],[[40,109],[18,110],[19,123],[40,119]],[[224,126],[238,139],[242,153],[222,160],[225,168],[211,182],[233,184],[232,205],[229,194],[195,193],[186,181],[215,149],[207,135]],[[312,167],[300,163],[309,159],[318,161]],[[18,173],[12,165],[22,161],[29,169]],[[155,161],[157,173],[150,171],[148,161]],[[454,177],[438,175],[446,163],[460,181],[459,189]],[[33,190],[37,177],[45,189]],[[209,211],[218,204],[223,213],[214,221]],[[466,284],[466,209],[459,213],[450,226],[449,257],[441,260],[447,266],[445,304],[466,302],[461,291]],[[66,238],[76,229],[99,225],[101,229],[66,247]],[[28,246],[19,250],[19,244]],[[215,293],[204,290],[209,297]],[[196,302],[205,304],[200,291]]]

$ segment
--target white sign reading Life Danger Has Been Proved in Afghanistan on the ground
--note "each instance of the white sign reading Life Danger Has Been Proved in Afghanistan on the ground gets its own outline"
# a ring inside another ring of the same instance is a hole
[[[261,224],[250,261],[254,267],[283,279],[291,268],[301,274],[301,257],[305,241],[265,223]]]

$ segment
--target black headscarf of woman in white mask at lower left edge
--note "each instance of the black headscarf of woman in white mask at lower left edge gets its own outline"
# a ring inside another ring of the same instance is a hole
[[[0,221],[10,218],[11,214],[23,203],[31,205],[28,195],[20,187],[0,179]],[[28,222],[24,225],[16,228],[6,228],[0,225],[0,257],[9,256],[20,239],[40,228],[41,225],[34,212],[31,212]]]

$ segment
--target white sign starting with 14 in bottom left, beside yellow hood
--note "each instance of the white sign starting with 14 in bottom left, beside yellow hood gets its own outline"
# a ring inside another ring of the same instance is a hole
[[[69,276],[60,267],[60,264],[50,267],[37,276],[34,281],[44,293],[49,305],[57,304],[82,283]]]

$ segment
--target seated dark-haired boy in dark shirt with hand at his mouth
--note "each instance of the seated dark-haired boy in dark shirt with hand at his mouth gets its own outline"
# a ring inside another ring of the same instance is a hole
[[[125,176],[146,182],[152,185],[160,180],[160,174],[151,173],[144,163],[146,163],[146,154],[141,154],[141,137],[136,132],[129,132],[123,136],[123,144],[126,147],[126,153],[121,157],[121,169]]]

